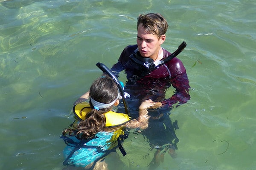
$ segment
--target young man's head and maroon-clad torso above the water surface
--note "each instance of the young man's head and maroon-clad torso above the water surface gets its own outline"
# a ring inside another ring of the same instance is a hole
[[[134,82],[138,83],[143,81],[145,84],[145,80],[148,81],[147,86],[150,88],[156,88],[157,86],[157,88],[166,89],[166,87],[168,88],[168,86],[172,85],[176,89],[175,94],[169,99],[161,100],[163,105],[172,107],[172,105],[177,102],[183,104],[190,99],[189,80],[186,69],[180,59],[175,57],[159,68],[151,71],[149,74],[145,73],[145,71],[132,60],[132,55],[136,53],[136,51],[139,51],[141,57],[153,59],[154,62],[169,56],[171,53],[161,47],[166,40],[167,28],[168,23],[161,14],[141,14],[137,21],[137,45],[128,45],[125,47],[118,62],[113,65],[111,71],[119,73],[125,70],[128,85],[131,82],[131,84],[134,84]],[[153,80],[163,84],[152,84]],[[140,91],[141,90],[148,89],[140,89]],[[146,94],[148,95],[148,93]]]

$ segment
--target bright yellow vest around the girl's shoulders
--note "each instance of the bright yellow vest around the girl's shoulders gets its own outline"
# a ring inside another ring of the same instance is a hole
[[[90,104],[87,102],[82,102],[73,106],[73,113],[80,120],[85,120],[85,116],[92,109],[90,108]],[[129,122],[131,119],[125,113],[116,113],[113,111],[109,111],[105,113],[106,117],[106,127],[118,127],[124,125]]]

